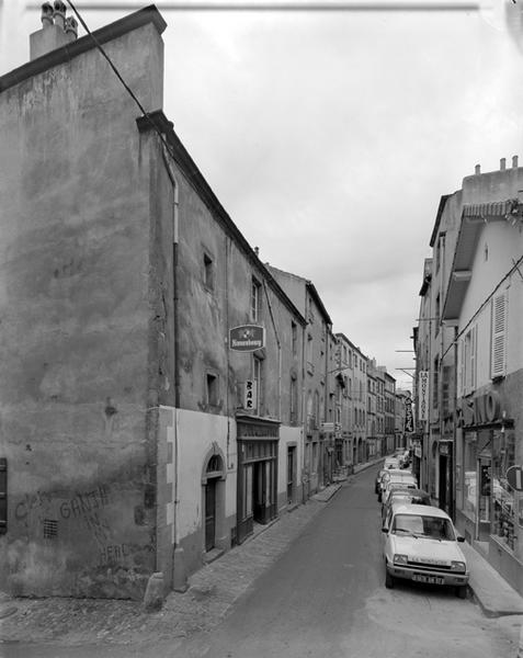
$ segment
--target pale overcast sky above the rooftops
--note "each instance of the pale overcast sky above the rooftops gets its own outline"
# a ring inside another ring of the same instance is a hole
[[[412,349],[440,197],[477,163],[492,171],[523,157],[518,3],[209,12],[157,2],[168,23],[163,110],[203,175],[262,261],[309,279],[333,330],[398,387],[411,386],[397,368],[412,354],[397,350]],[[75,4],[95,30],[147,2]],[[0,7],[3,73],[29,59],[41,23],[24,0]]]

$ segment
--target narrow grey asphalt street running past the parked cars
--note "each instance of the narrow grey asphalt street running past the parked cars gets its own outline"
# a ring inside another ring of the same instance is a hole
[[[203,624],[182,644],[19,642],[3,645],[2,656],[516,658],[521,616],[487,619],[473,600],[437,588],[385,588],[375,473],[368,468],[341,487],[214,628]]]

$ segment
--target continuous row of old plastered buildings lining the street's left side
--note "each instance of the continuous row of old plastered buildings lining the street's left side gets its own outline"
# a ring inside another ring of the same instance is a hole
[[[0,585],[183,589],[405,445],[410,396],[213,193],[162,112],[156,8],[42,22],[0,78]]]

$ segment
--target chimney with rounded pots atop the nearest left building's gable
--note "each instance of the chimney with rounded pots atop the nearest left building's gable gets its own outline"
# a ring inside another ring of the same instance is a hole
[[[42,30],[30,35],[30,59],[42,57],[78,38],[75,18],[66,19],[66,5],[61,0],[42,5]]]

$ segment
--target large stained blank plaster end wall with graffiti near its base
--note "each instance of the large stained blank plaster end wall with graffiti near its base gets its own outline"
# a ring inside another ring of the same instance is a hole
[[[143,104],[160,106],[156,27],[105,48]],[[19,594],[140,597],[155,569],[137,113],[95,49],[0,94],[0,581]]]

